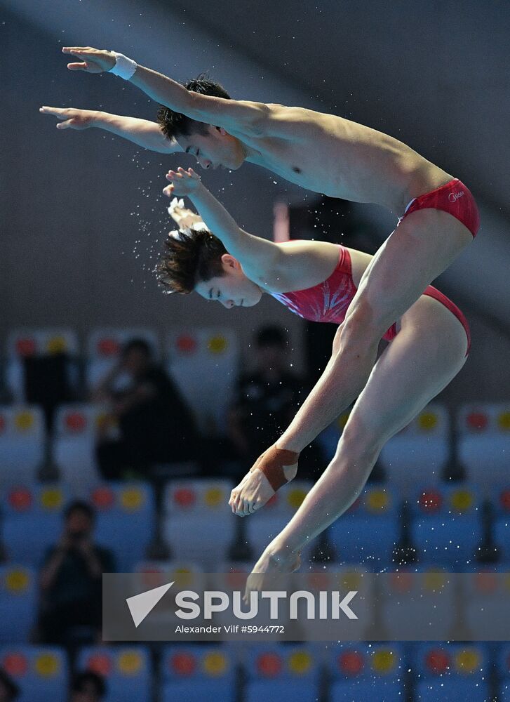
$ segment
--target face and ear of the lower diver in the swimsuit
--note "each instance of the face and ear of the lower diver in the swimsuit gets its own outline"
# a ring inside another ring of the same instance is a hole
[[[217,300],[227,310],[256,305],[262,298],[262,290],[246,277],[239,261],[224,253],[222,267],[223,275],[197,283],[195,291],[206,300]]]

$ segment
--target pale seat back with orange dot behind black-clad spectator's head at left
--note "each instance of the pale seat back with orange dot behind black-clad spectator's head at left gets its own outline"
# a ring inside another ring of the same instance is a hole
[[[87,339],[87,361],[85,366],[85,380],[88,390],[93,390],[102,378],[112,369],[119,360],[123,345],[130,339],[144,339],[152,349],[155,359],[159,359],[158,336],[151,329],[94,329]]]

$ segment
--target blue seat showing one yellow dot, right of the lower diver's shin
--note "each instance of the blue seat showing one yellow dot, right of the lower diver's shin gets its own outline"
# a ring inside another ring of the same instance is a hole
[[[393,491],[375,485],[366,487],[327,531],[340,562],[359,563],[376,570],[391,564],[400,535],[396,496]]]

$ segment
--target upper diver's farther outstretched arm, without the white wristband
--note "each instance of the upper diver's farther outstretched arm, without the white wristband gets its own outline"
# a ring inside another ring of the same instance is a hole
[[[39,107],[43,114],[53,114],[61,120],[57,128],[88,129],[96,127],[121,136],[128,141],[160,154],[182,152],[175,139],[167,139],[157,122],[137,117],[124,117],[122,114],[110,114],[100,110],[79,110],[76,107]]]

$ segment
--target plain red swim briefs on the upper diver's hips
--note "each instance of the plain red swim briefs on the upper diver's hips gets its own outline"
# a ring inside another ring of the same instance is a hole
[[[473,238],[476,237],[480,228],[480,213],[471,191],[458,178],[412,199],[399,221],[411,212],[425,208],[448,212],[469,229]]]

